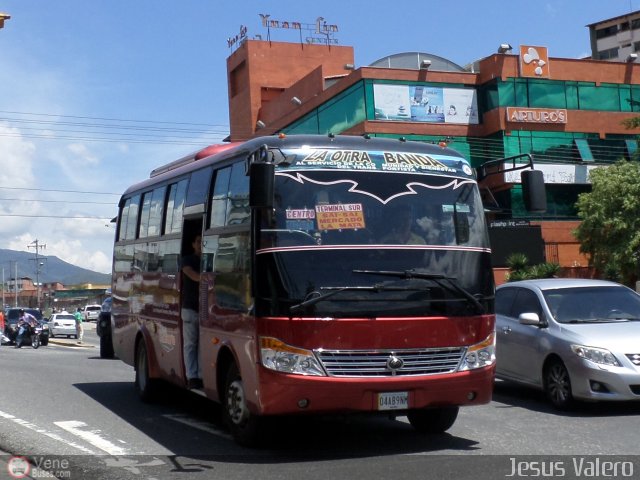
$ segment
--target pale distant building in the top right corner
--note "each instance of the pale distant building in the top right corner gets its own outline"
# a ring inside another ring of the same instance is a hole
[[[637,60],[634,55],[640,52],[640,10],[601,20],[587,27],[592,59],[611,62]]]

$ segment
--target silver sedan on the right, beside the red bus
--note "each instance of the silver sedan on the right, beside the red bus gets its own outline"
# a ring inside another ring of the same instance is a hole
[[[496,376],[574,399],[640,400],[640,295],[608,281],[525,280],[496,290]]]

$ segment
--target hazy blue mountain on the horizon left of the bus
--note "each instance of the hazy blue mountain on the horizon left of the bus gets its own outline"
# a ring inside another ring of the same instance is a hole
[[[34,252],[19,252],[0,248],[0,266],[4,272],[4,281],[9,281],[16,275],[16,262],[18,278],[29,277],[34,283],[36,281],[40,283],[59,282],[65,286],[86,283],[111,284],[111,275],[108,273],[94,272],[48,255],[38,255],[40,271],[36,274]]]

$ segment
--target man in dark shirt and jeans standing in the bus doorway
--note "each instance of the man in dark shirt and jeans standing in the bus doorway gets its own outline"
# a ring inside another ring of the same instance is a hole
[[[202,237],[196,235],[191,243],[193,253],[182,258],[182,340],[187,387],[202,388],[198,343],[200,338],[200,255]]]

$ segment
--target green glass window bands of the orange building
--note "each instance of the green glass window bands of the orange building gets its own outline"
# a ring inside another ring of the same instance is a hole
[[[362,80],[333,97],[283,129],[283,132],[339,134],[364,121],[373,121],[374,84],[421,85],[431,87],[471,88],[463,84]],[[606,112],[640,112],[640,85],[510,78],[493,80],[477,88],[479,119],[498,107],[560,108]],[[377,134],[394,137],[397,134]],[[433,135],[403,135],[407,140],[438,143],[443,138]],[[636,158],[637,136],[609,135],[601,139],[597,133],[517,130],[497,132],[487,137],[455,137],[449,146],[478,167],[488,160],[531,153],[538,163],[613,163],[621,158]],[[588,185],[548,185],[548,209],[540,219],[576,219],[575,201]],[[508,193],[514,217],[525,215],[522,192],[516,185]],[[502,202],[501,202],[502,203]]]

